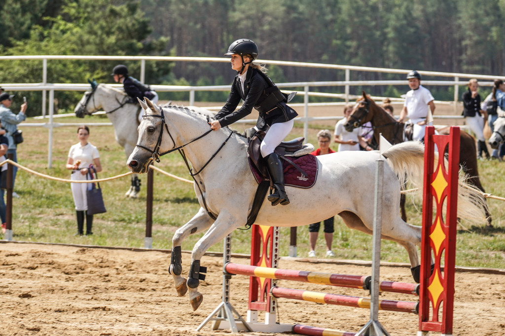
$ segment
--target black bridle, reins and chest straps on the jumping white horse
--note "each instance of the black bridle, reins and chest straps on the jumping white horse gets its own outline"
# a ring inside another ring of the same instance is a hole
[[[191,175],[191,177],[193,178],[193,181],[195,183],[195,185],[198,187],[198,190],[200,191],[200,195],[201,195],[201,199],[203,200],[204,202],[204,206],[205,206],[205,210],[207,211],[207,213],[209,214],[209,216],[216,220],[217,217],[214,213],[212,213],[211,211],[209,211],[208,207],[207,207],[207,203],[205,201],[205,196],[204,196],[204,193],[201,192],[201,189],[200,189],[200,185],[196,182],[196,179],[194,178],[196,175],[200,174],[201,171],[204,170],[204,168],[212,161],[212,159],[214,157],[216,157],[216,155],[219,153],[219,151],[224,147],[224,145],[226,145],[226,143],[228,142],[228,140],[230,139],[231,135],[233,134],[233,132],[230,131],[230,135],[228,135],[228,137],[226,138],[226,140],[221,144],[221,146],[216,150],[216,152],[211,156],[211,158],[200,168],[199,171],[197,171],[196,173],[193,173],[193,169],[192,167],[189,165],[189,162],[186,158],[186,154],[184,153],[184,150],[183,148],[187,145],[189,145],[190,143],[193,143],[195,142],[196,140],[199,140],[203,137],[205,137],[207,134],[211,133],[213,130],[210,129],[208,130],[207,132],[205,132],[204,134],[194,138],[193,140],[179,146],[179,147],[175,147],[175,141],[174,141],[174,137],[172,137],[172,134],[170,134],[170,130],[168,129],[168,125],[167,125],[167,122],[165,121],[165,115],[163,113],[163,108],[161,108],[160,106],[158,106],[158,108],[160,109],[161,111],[161,114],[160,115],[144,115],[142,116],[142,118],[160,118],[161,119],[161,130],[160,130],[160,134],[158,135],[158,141],[156,142],[156,145],[155,145],[155,148],[154,149],[149,149],[147,147],[144,147],[140,144],[136,144],[137,147],[140,147],[142,149],[145,149],[147,150],[148,152],[150,152],[152,155],[151,155],[151,158],[153,160],[155,160],[156,162],[160,162],[160,157],[165,155],[165,154],[168,154],[168,153],[171,153],[173,151],[176,151],[178,150],[179,153],[181,154],[182,158],[184,159],[184,163],[186,163],[186,167],[189,171],[189,175]],[[210,122],[210,118],[209,116],[207,116],[207,122]],[[170,139],[172,140],[172,143],[174,144],[172,146],[172,148],[170,150],[167,150],[163,153],[160,153],[160,147],[161,147],[161,143],[162,143],[162,140],[163,140],[163,128],[165,127],[165,129],[167,130],[167,133],[168,133],[168,136],[170,137]],[[152,162],[152,161],[151,161]],[[150,162],[149,162],[150,163]],[[148,166],[149,164],[147,164]]]

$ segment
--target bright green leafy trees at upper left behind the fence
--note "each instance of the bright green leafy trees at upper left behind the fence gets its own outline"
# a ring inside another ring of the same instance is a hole
[[[15,3],[15,4],[11,4]],[[14,8],[28,8],[31,3],[34,9],[44,13],[44,6],[48,2],[8,1],[5,4]],[[53,4],[54,5],[54,4]],[[37,13],[40,13],[37,12]],[[6,15],[4,11],[4,15]],[[16,10],[14,11],[16,14]],[[109,1],[109,0],[79,0],[63,2],[61,8],[55,11],[56,15],[44,17],[41,21],[34,20],[31,25],[23,26],[29,31],[29,36],[22,40],[25,33],[19,36],[13,34],[9,41],[12,46],[0,45],[0,54],[5,55],[137,55],[155,54],[164,49],[166,38],[154,40],[149,38],[151,27],[149,19],[144,18],[139,10],[137,1]],[[15,15],[14,17],[18,17]],[[28,18],[27,18],[28,20]],[[29,21],[29,20],[28,20]],[[4,25],[16,26],[16,22],[4,22]],[[86,60],[52,60],[48,61],[48,83],[82,83],[86,78],[96,78],[98,82],[111,82],[111,70],[116,62],[86,61]],[[138,73],[139,64],[131,66],[130,73]],[[37,83],[42,82],[41,61],[3,61],[3,71],[0,73],[0,82],[4,83]],[[151,77],[146,82],[157,82],[157,76],[170,72],[167,63],[146,63],[146,73]],[[135,75],[134,75],[135,77]],[[29,92],[26,95],[30,101],[29,116],[40,115],[38,109],[41,105],[41,93]],[[61,110],[72,111],[76,101],[81,97],[79,92],[56,91],[55,98]]]

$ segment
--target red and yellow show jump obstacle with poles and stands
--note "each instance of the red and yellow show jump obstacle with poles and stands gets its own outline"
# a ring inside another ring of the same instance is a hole
[[[221,304],[198,326],[200,330],[209,321],[213,329],[231,329],[257,332],[292,332],[315,336],[388,335],[377,321],[377,310],[390,310],[419,314],[418,336],[429,331],[442,335],[452,334],[452,313],[454,298],[454,268],[456,252],[458,162],[460,152],[460,129],[451,127],[449,135],[435,135],[433,127],[426,128],[425,136],[425,177],[423,195],[423,235],[421,246],[421,283],[406,284],[379,281],[380,224],[374,223],[374,260],[372,276],[329,274],[277,268],[279,251],[279,230],[274,227],[252,226],[250,265],[230,262],[230,236],[226,237],[223,253],[223,296]],[[440,160],[435,162],[435,145],[438,151],[448,149],[448,165]],[[380,160],[378,160],[380,161]],[[378,172],[380,172],[378,163]],[[379,177],[377,174],[376,177]],[[378,180],[381,179],[378,178]],[[377,190],[377,188],[376,188]],[[443,215],[442,204],[446,202]],[[377,207],[376,199],[376,207]],[[380,207],[380,203],[379,203]],[[377,213],[376,213],[377,216]],[[381,212],[378,216],[381,221]],[[445,218],[445,220],[444,220]],[[376,229],[379,229],[378,232]],[[378,249],[376,249],[376,239]],[[431,262],[433,256],[433,271]],[[443,256],[443,260],[442,260]],[[377,262],[376,262],[377,261]],[[374,270],[374,264],[377,268]],[[232,275],[250,276],[249,303],[246,321],[229,303],[230,279]],[[371,290],[371,298],[310,292],[281,288],[276,280],[283,279],[312,284]],[[419,302],[379,300],[378,291],[413,294]],[[371,309],[370,328],[358,333],[324,327],[276,322],[277,298],[312,301],[358,308]],[[441,308],[442,307],[442,308]],[[258,312],[265,312],[264,322],[259,322]],[[375,314],[374,314],[375,311]]]

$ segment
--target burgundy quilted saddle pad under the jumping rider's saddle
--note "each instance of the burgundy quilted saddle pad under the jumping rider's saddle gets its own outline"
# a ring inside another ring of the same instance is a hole
[[[314,183],[316,183],[318,173],[316,156],[312,154],[306,154],[298,157],[289,156],[287,158],[293,161],[296,165],[298,165],[301,170],[303,170],[308,174],[308,176],[305,176],[291,164],[282,160],[284,167],[285,185],[297,188],[311,188],[314,185]],[[252,175],[255,177],[256,182],[260,184],[265,180],[265,178],[260,174],[256,166],[252,164],[251,160],[248,159],[248,161]]]

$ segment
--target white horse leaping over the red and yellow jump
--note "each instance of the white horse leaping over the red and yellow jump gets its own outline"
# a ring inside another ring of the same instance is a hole
[[[135,173],[146,173],[148,165],[159,156],[180,149],[193,167],[199,211],[173,237],[170,272],[180,296],[189,287],[194,310],[203,296],[197,291],[198,279],[205,270],[200,258],[212,245],[233,230],[245,225],[257,189],[247,163],[246,139],[228,127],[210,131],[205,116],[180,107],[141,102],[146,115],[139,126],[138,145],[128,159]],[[204,137],[201,137],[203,136]],[[223,146],[223,144],[225,144]],[[220,149],[220,147],[222,147]],[[409,253],[411,265],[419,266],[416,246],[421,243],[421,227],[403,221],[398,213],[400,181],[407,176],[415,185],[423,185],[424,146],[404,142],[392,146],[384,155],[384,207],[382,238],[395,241]],[[214,157],[214,158],[213,158]],[[265,199],[255,224],[293,227],[321,221],[335,214],[351,228],[372,234],[374,220],[374,185],[377,151],[345,151],[318,156],[319,175],[310,189],[286,187],[291,203],[271,206]],[[485,221],[485,201],[475,189],[460,188],[458,206],[462,218]],[[211,217],[212,214],[217,219]],[[189,276],[182,277],[181,242],[190,234],[207,230],[195,244]]]

